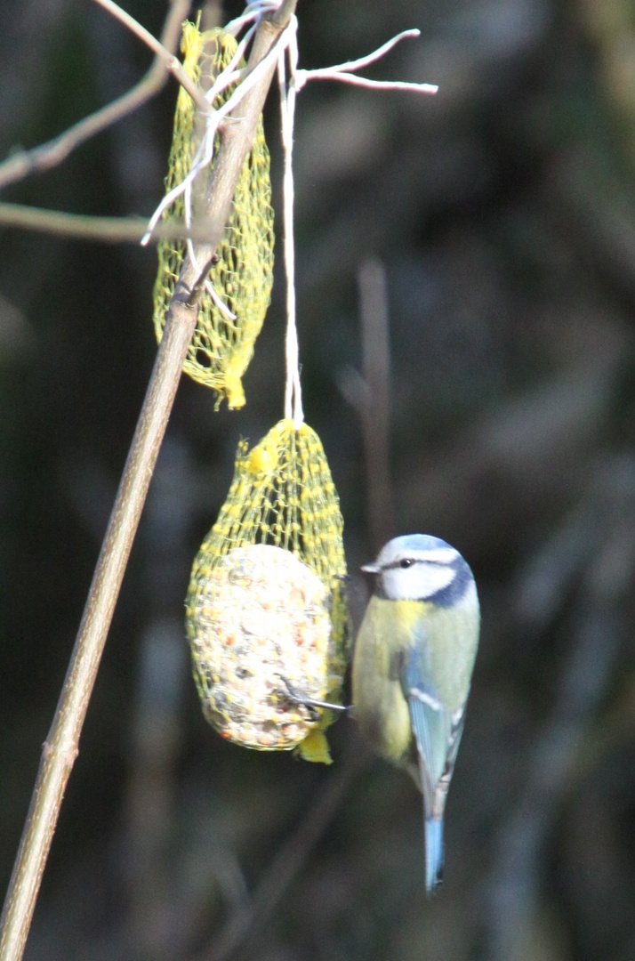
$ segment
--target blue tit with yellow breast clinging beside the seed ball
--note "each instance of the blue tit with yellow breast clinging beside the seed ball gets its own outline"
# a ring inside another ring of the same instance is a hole
[[[354,646],[354,718],[423,793],[429,893],[478,645],[476,584],[461,554],[427,534],[395,537],[362,571],[375,586]]]

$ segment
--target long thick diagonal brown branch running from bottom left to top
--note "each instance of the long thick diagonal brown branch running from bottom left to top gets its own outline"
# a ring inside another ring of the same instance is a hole
[[[262,59],[279,33],[280,28],[273,28],[266,19],[260,23],[250,63]],[[206,198],[206,212],[213,221],[214,230],[209,235],[208,245],[197,251],[200,261],[211,256],[225,229],[235,185],[254,142],[273,70],[272,64],[271,72],[260,77],[258,84],[242,101],[240,122],[229,125],[223,136]],[[19,961],[24,951],[41,876],[57,825],[64,789],[78,753],[80,733],[114,605],[181,378],[183,360],[194,332],[199,305],[188,308],[183,302],[196,276],[192,264],[185,259],[88,592],[60,701],[43,747],[27,823],[0,921],[0,961]]]

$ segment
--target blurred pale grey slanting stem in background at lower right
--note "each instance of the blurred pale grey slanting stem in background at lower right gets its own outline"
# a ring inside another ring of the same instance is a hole
[[[550,717],[527,768],[525,790],[501,829],[500,850],[489,891],[492,961],[520,961],[535,943],[540,914],[543,848],[567,791],[595,717],[623,636],[621,602],[635,576],[635,463],[632,458],[602,461],[585,501],[593,530],[598,510],[610,514],[595,544],[579,544],[581,603],[572,626],[571,650],[561,669]],[[577,523],[582,507],[575,511]],[[590,554],[590,556],[589,556]],[[569,556],[565,558],[568,573]],[[542,626],[542,625],[541,625]]]

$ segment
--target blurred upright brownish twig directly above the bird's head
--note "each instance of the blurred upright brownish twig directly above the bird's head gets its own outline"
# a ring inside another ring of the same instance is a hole
[[[390,480],[390,336],[383,264],[367,260],[357,274],[361,319],[362,375],[348,370],[340,389],[361,424],[366,457],[368,530],[373,547],[395,533]]]

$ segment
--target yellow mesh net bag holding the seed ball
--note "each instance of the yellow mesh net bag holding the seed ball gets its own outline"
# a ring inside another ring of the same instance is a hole
[[[330,762],[341,703],[348,614],[343,521],[320,438],[292,419],[251,451],[238,446],[232,486],[192,568],[186,628],[208,722],[247,748],[297,748]]]

